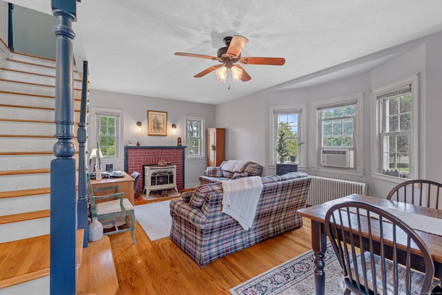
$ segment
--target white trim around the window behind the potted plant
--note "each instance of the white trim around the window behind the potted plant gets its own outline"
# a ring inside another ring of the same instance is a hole
[[[273,162],[273,151],[275,151],[276,146],[273,138],[276,137],[275,134],[275,120],[273,120],[273,112],[274,111],[282,111],[282,110],[289,110],[289,109],[298,109],[301,110],[301,121],[300,121],[300,142],[305,142],[305,144],[302,144],[299,146],[301,157],[298,160],[300,167],[307,166],[307,106],[305,104],[290,104],[285,106],[269,106],[269,124],[268,126],[268,133],[269,133],[269,152],[267,153],[267,166],[276,167],[276,163]]]

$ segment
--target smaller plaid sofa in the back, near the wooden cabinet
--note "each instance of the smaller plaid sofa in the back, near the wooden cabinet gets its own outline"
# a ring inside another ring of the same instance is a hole
[[[262,166],[256,162],[247,162],[242,167],[241,172],[231,172],[223,170],[222,166],[226,161],[223,161],[220,166],[209,166],[204,171],[204,175],[200,175],[200,184],[221,182],[222,180],[234,180],[236,178],[243,178],[248,176],[261,176]]]

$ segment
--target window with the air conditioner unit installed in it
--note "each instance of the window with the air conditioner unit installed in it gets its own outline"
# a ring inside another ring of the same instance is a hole
[[[314,103],[319,168],[363,171],[363,93]]]

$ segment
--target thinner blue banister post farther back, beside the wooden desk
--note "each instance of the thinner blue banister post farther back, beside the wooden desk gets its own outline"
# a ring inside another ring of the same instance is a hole
[[[83,62],[80,120],[78,122],[78,228],[84,229],[83,247],[88,247],[88,188],[86,184],[86,112],[88,104],[88,62]]]

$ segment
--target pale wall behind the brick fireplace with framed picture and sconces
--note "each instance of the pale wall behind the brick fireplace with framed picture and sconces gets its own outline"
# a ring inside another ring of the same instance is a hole
[[[93,81],[91,81],[92,87]],[[142,146],[175,146],[177,144],[177,137],[182,137],[182,144],[186,145],[186,142],[184,142],[186,115],[206,117],[206,128],[215,127],[215,106],[210,104],[195,104],[93,89],[90,90],[88,99],[90,107],[99,106],[124,110],[124,146],[128,140],[137,140]],[[167,112],[167,136],[147,136],[148,110]],[[142,130],[140,132],[138,132],[136,126],[138,121],[142,122]],[[177,133],[175,135],[171,132],[171,124],[177,125]],[[88,145],[88,151],[90,151],[90,142],[88,142]],[[124,159],[119,161],[106,160],[106,162],[113,162],[115,170],[124,170]],[[205,158],[199,160],[186,159],[184,161],[184,187],[195,187],[196,184],[199,184],[198,178],[204,169],[206,169]]]

